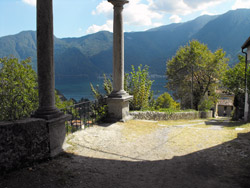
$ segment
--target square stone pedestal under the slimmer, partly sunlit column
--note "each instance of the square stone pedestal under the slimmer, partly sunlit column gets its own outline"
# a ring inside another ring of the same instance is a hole
[[[129,115],[129,101],[133,99],[131,95],[125,95],[121,98],[107,98],[108,104],[108,122],[125,122],[132,119]]]

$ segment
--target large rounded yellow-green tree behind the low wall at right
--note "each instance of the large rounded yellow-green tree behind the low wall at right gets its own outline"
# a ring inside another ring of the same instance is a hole
[[[228,59],[226,53],[218,49],[212,53],[205,44],[193,40],[180,47],[175,56],[167,62],[167,85],[173,91],[176,100],[181,101],[182,108],[198,106],[203,97],[215,91],[218,80],[226,70]],[[193,89],[191,89],[193,88]]]

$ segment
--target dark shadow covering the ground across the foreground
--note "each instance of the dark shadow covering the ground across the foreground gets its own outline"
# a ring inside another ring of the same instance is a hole
[[[97,159],[64,153],[0,177],[1,188],[249,188],[250,133],[160,161]]]

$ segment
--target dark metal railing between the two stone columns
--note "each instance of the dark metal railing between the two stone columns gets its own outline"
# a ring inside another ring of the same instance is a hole
[[[67,108],[67,114],[72,115],[66,122],[67,134],[93,126],[105,115],[105,99],[86,101]],[[101,112],[100,112],[101,110]]]

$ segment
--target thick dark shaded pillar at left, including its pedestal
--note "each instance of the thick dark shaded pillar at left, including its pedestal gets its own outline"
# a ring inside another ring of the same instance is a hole
[[[55,107],[53,0],[37,0],[37,74],[39,108],[34,117],[46,122],[49,153],[61,153],[65,139],[65,121],[71,118]]]

